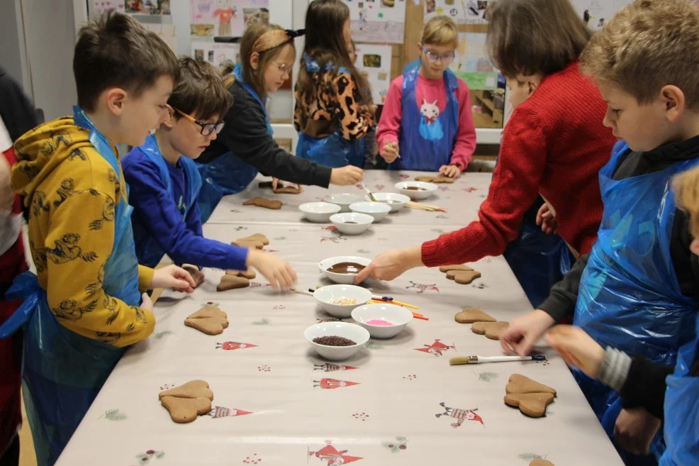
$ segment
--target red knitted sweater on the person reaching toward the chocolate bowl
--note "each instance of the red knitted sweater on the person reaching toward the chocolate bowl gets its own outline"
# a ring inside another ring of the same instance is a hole
[[[539,193],[556,211],[559,235],[581,255],[590,252],[603,211],[598,172],[616,142],[602,124],[606,110],[578,62],[544,77],[505,126],[479,220],[423,243],[423,263],[435,267],[501,255]]]

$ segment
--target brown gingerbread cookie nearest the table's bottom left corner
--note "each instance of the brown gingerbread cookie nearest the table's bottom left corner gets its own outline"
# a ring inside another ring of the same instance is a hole
[[[192,380],[184,385],[158,394],[160,404],[176,423],[189,423],[197,416],[211,411],[213,392],[203,380]]]

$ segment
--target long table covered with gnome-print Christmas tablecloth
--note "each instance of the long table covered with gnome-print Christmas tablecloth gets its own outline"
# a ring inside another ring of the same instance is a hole
[[[365,176],[370,189],[390,192],[416,174]],[[425,200],[447,213],[403,209],[359,236],[303,221],[298,211],[298,204],[328,192],[362,194],[359,187],[275,196],[255,182],[221,201],[204,234],[230,242],[264,233],[271,240],[265,249],[295,268],[298,289],[313,289],[329,284],[318,272],[327,257],[374,257],[465,226],[476,218],[489,182],[489,174],[464,174]],[[260,195],[284,206],[242,206]],[[471,265],[483,276],[470,285],[425,267],[393,282],[367,282],[375,294],[419,306],[430,320],[414,320],[391,340],[371,339],[337,364],[320,359],[303,338],[306,327],[330,318],[313,298],[274,292],[262,277],[249,288],[216,292],[223,271],[205,269],[206,282],[194,294],[162,294],[155,333],[118,363],[57,465],[527,466],[536,457],[557,466],[622,465],[552,350],[542,349],[545,362],[449,366],[456,355],[501,354],[497,341],[456,323],[457,311],[476,306],[511,320],[532,309],[502,257]],[[230,326],[221,335],[184,326],[207,303],[228,313]],[[557,389],[545,417],[505,406],[513,373]],[[192,379],[210,384],[214,409],[193,423],[174,423],[158,393]]]

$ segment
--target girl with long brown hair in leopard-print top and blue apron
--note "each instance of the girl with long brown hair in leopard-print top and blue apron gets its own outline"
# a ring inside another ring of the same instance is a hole
[[[362,138],[374,123],[367,79],[349,57],[349,8],[314,0],[306,12],[306,47],[296,82],[296,155],[330,167],[364,165]]]

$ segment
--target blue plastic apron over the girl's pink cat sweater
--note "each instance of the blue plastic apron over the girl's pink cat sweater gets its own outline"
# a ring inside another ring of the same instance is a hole
[[[451,70],[444,72],[447,105],[435,121],[427,121],[415,100],[421,63],[415,60],[403,70],[401,140],[398,146],[401,158],[388,165],[389,170],[438,172],[442,165],[449,165],[452,160],[459,133],[459,101],[454,95],[459,89],[459,80]]]

